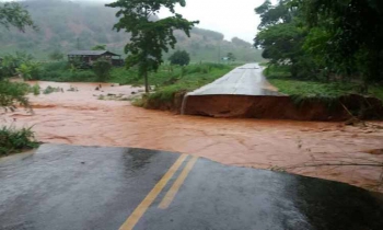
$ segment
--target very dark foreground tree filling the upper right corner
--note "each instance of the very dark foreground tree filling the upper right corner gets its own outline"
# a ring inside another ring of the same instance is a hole
[[[321,26],[327,36],[327,64],[345,74],[383,80],[383,1],[302,1],[311,28]],[[327,22],[327,23],[324,23]]]

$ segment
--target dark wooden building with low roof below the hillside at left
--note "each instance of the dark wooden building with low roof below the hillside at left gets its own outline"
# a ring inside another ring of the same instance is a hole
[[[68,54],[68,61],[80,60],[88,66],[92,66],[98,58],[109,60],[113,66],[124,66],[121,56],[108,50],[73,50]]]

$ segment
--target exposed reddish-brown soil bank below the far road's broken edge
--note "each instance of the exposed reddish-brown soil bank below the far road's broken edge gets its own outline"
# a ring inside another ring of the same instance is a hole
[[[242,117],[295,120],[347,120],[353,112],[359,118],[383,117],[382,102],[374,97],[348,95],[332,103],[312,99],[300,105],[290,96],[189,95],[184,114],[212,117]]]

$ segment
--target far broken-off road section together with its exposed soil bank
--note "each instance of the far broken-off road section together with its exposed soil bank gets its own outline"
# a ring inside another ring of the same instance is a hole
[[[242,117],[295,120],[346,120],[349,111],[362,111],[361,118],[383,115],[375,97],[345,95],[328,103],[312,97],[297,103],[278,92],[263,76],[257,64],[234,69],[214,82],[184,96],[181,113],[211,117]]]

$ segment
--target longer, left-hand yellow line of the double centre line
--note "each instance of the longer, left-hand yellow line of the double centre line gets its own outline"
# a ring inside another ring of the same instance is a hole
[[[155,197],[161,193],[165,187],[167,182],[173,177],[174,173],[179,169],[182,163],[187,158],[187,154],[182,154],[177,161],[169,169],[166,174],[156,183],[153,189],[147,195],[147,197],[141,202],[130,217],[124,222],[119,230],[131,230],[135,228],[137,222],[141,219],[142,215],[147,211],[149,206],[154,202]]]

